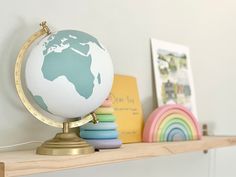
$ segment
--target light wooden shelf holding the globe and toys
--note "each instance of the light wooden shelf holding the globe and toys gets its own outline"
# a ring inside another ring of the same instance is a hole
[[[53,172],[233,145],[236,145],[236,136],[207,136],[199,141],[125,144],[120,149],[101,150],[82,156],[42,156],[36,155],[34,151],[4,152],[0,153],[0,177]]]

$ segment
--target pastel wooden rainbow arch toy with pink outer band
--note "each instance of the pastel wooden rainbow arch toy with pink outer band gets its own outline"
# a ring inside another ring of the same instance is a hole
[[[164,105],[151,113],[146,121],[143,141],[199,140],[202,134],[195,116],[181,105]]]

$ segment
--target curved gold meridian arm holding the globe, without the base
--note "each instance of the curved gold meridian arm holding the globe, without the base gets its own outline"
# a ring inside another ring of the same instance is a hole
[[[28,98],[25,96],[25,92],[23,90],[22,83],[21,83],[22,63],[24,61],[24,57],[25,57],[25,53],[26,53],[27,49],[39,37],[41,37],[45,34],[47,34],[47,35],[50,34],[50,30],[47,27],[46,22],[42,22],[40,24],[40,26],[42,27],[42,29],[39,30],[38,32],[34,33],[32,36],[30,36],[30,38],[23,44],[23,46],[20,49],[20,52],[17,56],[16,64],[15,64],[15,85],[16,85],[16,90],[17,90],[17,93],[20,97],[21,102],[23,103],[23,105],[26,107],[26,109],[34,117],[36,117],[38,120],[42,121],[43,123],[45,123],[47,125],[50,125],[50,126],[53,126],[53,127],[58,127],[58,128],[63,128],[63,123],[62,122],[55,121],[53,119],[50,119],[50,118],[44,116],[42,113],[40,113],[37,109],[35,109],[32,106],[32,104],[30,103]],[[69,128],[74,128],[74,127],[84,125],[84,124],[94,120],[94,118],[95,118],[94,114],[89,114],[81,120],[69,122]]]

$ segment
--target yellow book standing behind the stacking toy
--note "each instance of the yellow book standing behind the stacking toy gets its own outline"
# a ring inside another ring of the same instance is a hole
[[[136,79],[115,75],[111,97],[119,139],[123,143],[142,141],[144,120]]]

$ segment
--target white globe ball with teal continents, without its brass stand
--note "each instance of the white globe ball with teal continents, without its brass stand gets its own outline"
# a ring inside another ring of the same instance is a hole
[[[76,30],[43,38],[25,66],[26,86],[34,101],[62,118],[82,117],[99,107],[110,93],[113,76],[105,47]]]

